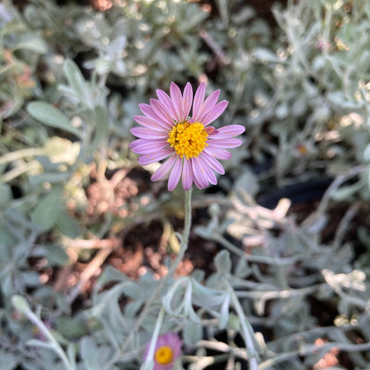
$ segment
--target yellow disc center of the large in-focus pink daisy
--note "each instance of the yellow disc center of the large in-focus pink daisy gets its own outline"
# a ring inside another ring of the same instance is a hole
[[[189,124],[176,124],[168,134],[167,142],[176,150],[176,154],[186,159],[198,157],[207,146],[208,133],[204,130],[203,124],[194,122]]]

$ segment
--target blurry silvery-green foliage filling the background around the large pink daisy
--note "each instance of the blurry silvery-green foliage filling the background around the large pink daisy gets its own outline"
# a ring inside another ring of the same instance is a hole
[[[274,6],[276,24],[236,0],[113,3],[0,3],[0,369],[139,369],[161,302],[162,331],[198,356],[189,369],[210,364],[212,346],[228,369],[257,352],[258,369],[312,369],[332,348],[346,361],[331,369],[369,369],[369,1],[288,1]],[[106,169],[137,166],[128,144],[138,103],[171,81],[204,80],[229,101],[216,126],[246,127],[217,192],[194,192],[209,221],[192,232],[221,249],[214,274],[170,278],[138,325],[158,281],[106,267],[72,310],[78,285],[57,292],[35,261],[60,269],[75,239],[183,216],[178,187],[138,194],[127,217],[89,219],[85,189],[92,165],[102,183]],[[297,183],[310,193],[323,179],[331,185],[303,221],[287,215],[289,202],[255,201]],[[315,305],[328,308],[325,324]],[[224,330],[227,350],[212,342]]]

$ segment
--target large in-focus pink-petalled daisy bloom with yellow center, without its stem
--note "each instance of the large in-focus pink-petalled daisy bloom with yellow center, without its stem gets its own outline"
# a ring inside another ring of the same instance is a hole
[[[219,90],[205,98],[205,83],[199,85],[193,100],[190,83],[183,94],[175,83],[171,83],[170,95],[157,90],[158,99],[151,99],[150,105],[140,104],[144,116],[135,116],[142,127],[131,128],[139,139],[131,142],[134,153],[141,154],[138,162],[149,165],[169,157],[151,176],[160,180],[169,173],[168,190],[172,191],[182,177],[184,190],[190,190],[192,183],[203,189],[208,183],[215,185],[214,171],[224,174],[218,159],[231,158],[230,151],[242,140],[233,138],[244,132],[244,126],[229,125],[217,130],[208,126],[226,109],[228,102],[220,101]],[[189,117],[192,108],[192,116]],[[182,174],[182,176],[181,176]]]

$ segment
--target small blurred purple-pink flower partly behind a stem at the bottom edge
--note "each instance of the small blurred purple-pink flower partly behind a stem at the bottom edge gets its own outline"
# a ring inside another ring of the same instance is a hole
[[[180,357],[183,342],[175,333],[160,335],[155,344],[153,370],[171,370],[174,362]],[[144,361],[148,355],[150,342],[146,345]]]

